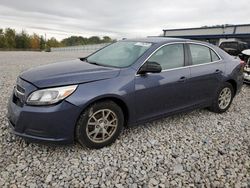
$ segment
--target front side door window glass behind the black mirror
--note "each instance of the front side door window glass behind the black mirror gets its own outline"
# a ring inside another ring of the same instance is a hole
[[[160,48],[148,61],[154,61],[162,66],[162,69],[172,69],[184,66],[183,44],[171,44]]]

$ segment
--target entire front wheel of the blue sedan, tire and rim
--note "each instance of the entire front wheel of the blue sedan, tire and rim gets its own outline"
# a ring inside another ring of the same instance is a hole
[[[84,147],[99,149],[112,144],[124,127],[122,109],[113,101],[94,103],[76,125],[76,139]]]

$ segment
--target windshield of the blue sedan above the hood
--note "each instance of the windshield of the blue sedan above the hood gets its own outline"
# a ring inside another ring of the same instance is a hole
[[[127,67],[133,64],[152,43],[120,41],[113,43],[87,58],[89,63],[111,67]]]

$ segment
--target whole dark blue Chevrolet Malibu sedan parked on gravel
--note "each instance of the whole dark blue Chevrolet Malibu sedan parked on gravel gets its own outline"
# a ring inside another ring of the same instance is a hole
[[[204,42],[126,39],[21,73],[8,119],[29,141],[101,148],[126,126],[196,108],[225,112],[242,86],[243,65]]]

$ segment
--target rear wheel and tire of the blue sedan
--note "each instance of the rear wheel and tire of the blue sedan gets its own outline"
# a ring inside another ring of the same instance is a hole
[[[215,113],[226,112],[234,98],[235,92],[233,86],[225,82],[216,92],[216,97],[209,107],[209,110]]]

